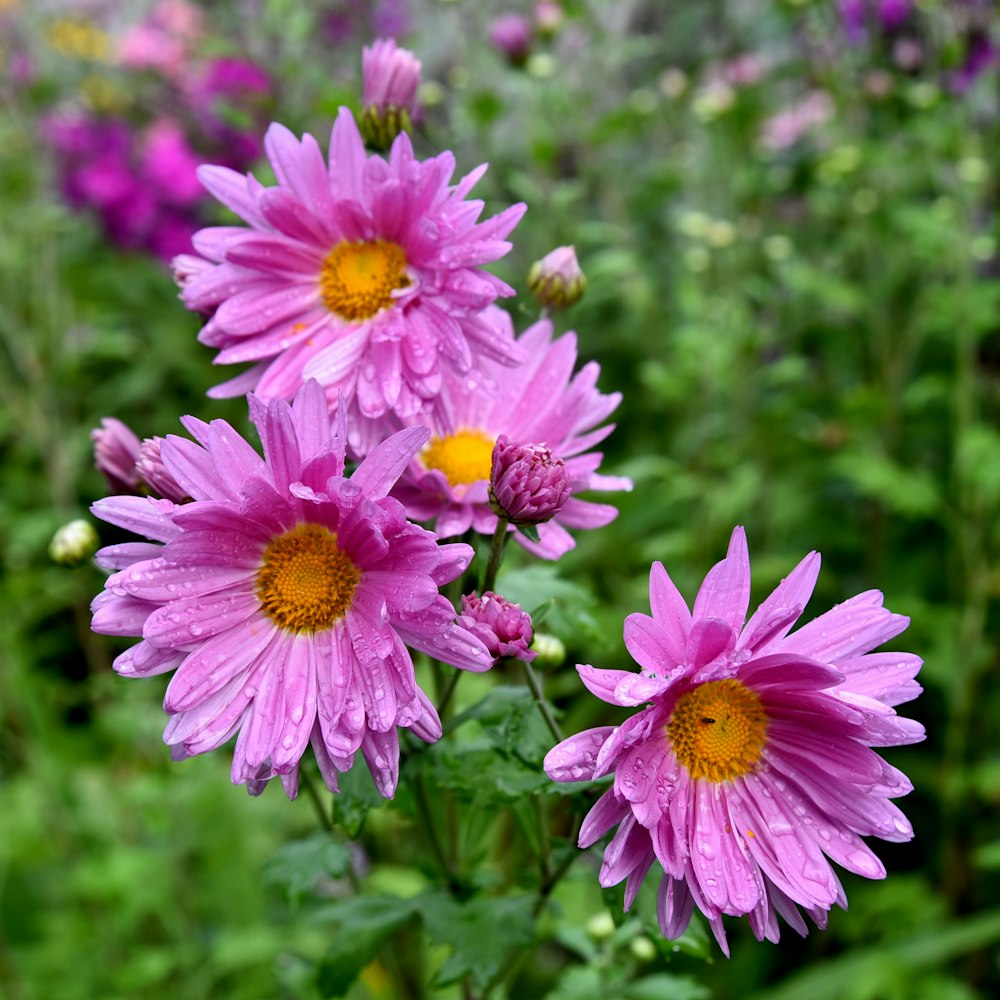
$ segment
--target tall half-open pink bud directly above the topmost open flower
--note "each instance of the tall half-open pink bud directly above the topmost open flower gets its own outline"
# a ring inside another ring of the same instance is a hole
[[[387,150],[419,117],[420,60],[391,38],[379,38],[361,56],[363,78],[359,127],[365,142]]]

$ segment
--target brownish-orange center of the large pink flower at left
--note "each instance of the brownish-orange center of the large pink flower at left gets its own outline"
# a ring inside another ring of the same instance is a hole
[[[351,606],[357,566],[320,524],[300,524],[273,539],[257,571],[261,610],[291,632],[321,632]]]

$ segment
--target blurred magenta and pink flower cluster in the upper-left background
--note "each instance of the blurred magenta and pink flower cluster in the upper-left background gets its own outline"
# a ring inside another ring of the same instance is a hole
[[[271,92],[256,64],[202,57],[204,36],[200,9],[161,0],[116,46],[117,64],[137,78],[136,93],[149,95],[143,103],[123,94],[113,110],[65,110],[43,130],[66,202],[94,212],[117,245],[164,261],[190,253],[202,224],[198,167],[221,159],[245,170],[258,156],[259,117]],[[249,125],[233,125],[233,110]]]

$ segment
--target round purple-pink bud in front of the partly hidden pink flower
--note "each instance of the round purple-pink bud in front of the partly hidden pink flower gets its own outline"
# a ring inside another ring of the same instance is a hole
[[[542,444],[512,444],[501,434],[493,446],[490,507],[513,525],[542,524],[569,499],[566,463]]]

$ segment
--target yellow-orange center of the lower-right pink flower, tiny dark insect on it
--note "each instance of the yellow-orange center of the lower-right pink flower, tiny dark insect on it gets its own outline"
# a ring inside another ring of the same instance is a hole
[[[692,778],[731,781],[760,759],[767,713],[760,697],[739,681],[709,681],[677,700],[667,736]]]

